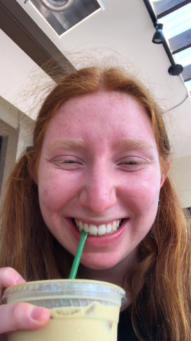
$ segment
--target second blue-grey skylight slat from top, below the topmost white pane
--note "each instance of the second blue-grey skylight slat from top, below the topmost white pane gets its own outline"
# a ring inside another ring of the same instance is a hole
[[[169,39],[169,44],[173,55],[185,50],[185,48],[189,48],[191,46],[191,28],[180,35],[176,35]]]

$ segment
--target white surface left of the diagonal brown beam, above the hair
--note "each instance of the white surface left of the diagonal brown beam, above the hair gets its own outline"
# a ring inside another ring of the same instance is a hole
[[[0,96],[35,119],[37,111],[31,110],[35,100],[31,80],[36,76],[50,82],[50,77],[1,29],[0,42]]]

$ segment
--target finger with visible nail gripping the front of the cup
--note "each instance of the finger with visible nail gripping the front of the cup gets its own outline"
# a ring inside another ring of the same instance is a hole
[[[0,306],[0,334],[19,329],[39,329],[49,320],[48,309],[28,303]]]

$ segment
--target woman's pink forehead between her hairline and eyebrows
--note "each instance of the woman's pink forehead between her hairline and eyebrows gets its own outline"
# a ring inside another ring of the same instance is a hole
[[[55,136],[56,135],[56,136]],[[125,93],[81,95],[60,106],[46,131],[48,138],[154,139],[152,124],[141,104]]]

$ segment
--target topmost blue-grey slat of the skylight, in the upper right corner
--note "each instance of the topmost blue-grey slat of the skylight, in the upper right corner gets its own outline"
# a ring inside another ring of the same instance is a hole
[[[154,10],[158,19],[165,17],[174,12],[174,10],[179,10],[179,8],[188,5],[191,0],[163,0],[154,3]]]

